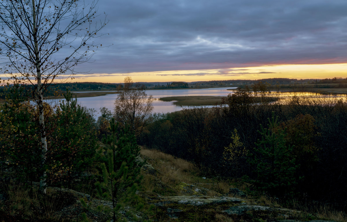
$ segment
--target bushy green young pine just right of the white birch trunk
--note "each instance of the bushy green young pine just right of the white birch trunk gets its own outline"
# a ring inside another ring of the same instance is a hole
[[[54,146],[48,151],[46,162],[50,165],[49,180],[67,181],[70,187],[72,175],[93,163],[98,145],[93,117],[73,99],[68,89],[64,97],[65,101],[60,102],[55,112],[50,138]]]

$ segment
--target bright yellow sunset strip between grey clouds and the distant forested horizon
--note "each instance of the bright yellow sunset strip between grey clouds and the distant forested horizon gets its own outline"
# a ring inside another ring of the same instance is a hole
[[[247,69],[238,70],[235,69]],[[289,79],[325,79],[333,77],[347,77],[347,63],[340,64],[300,64],[300,65],[264,65],[251,67],[233,67],[225,74],[221,69],[209,70],[177,70],[156,72],[134,72],[95,74],[94,76],[76,78],[73,82],[109,82],[121,83],[125,76],[131,76],[134,82],[171,82],[171,81],[211,81],[211,80],[257,80],[267,78]],[[223,69],[227,70],[227,69]],[[234,71],[232,71],[234,70]],[[267,73],[260,73],[267,72]],[[198,75],[198,73],[204,73]],[[246,73],[246,74],[237,74]],[[197,74],[197,75],[194,75]]]

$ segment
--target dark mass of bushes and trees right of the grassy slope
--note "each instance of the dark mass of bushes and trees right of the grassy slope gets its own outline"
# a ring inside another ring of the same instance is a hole
[[[255,104],[240,90],[225,103],[159,115],[138,141],[211,176],[249,183],[251,192],[346,209],[346,100],[293,96]]]

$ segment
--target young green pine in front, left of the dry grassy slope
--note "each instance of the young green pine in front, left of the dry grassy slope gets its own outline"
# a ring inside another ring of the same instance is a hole
[[[101,164],[103,181],[95,185],[100,197],[112,201],[113,222],[136,221],[136,213],[144,207],[136,195],[144,162],[136,159],[140,148],[129,128],[126,126],[117,133],[118,125],[114,118],[110,121],[110,128],[113,141],[111,149],[107,150],[106,162]],[[99,210],[102,209],[99,206]]]

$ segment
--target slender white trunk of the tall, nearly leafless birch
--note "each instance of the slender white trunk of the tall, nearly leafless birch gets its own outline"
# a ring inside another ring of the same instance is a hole
[[[35,1],[32,0],[33,4],[33,39],[35,44],[35,66],[36,66],[36,75],[37,75],[37,96],[39,97],[39,101],[37,105],[39,106],[39,122],[40,122],[40,134],[41,134],[41,145],[42,145],[42,153],[41,153],[41,166],[44,166],[46,160],[47,153],[47,141],[46,141],[46,132],[45,132],[45,124],[44,124],[44,116],[43,116],[43,93],[42,93],[42,82],[41,82],[41,64],[39,57],[39,46],[37,43],[37,32],[36,32],[36,9],[35,9]],[[46,194],[46,171],[43,170],[41,179],[40,179],[40,190],[43,194]]]

